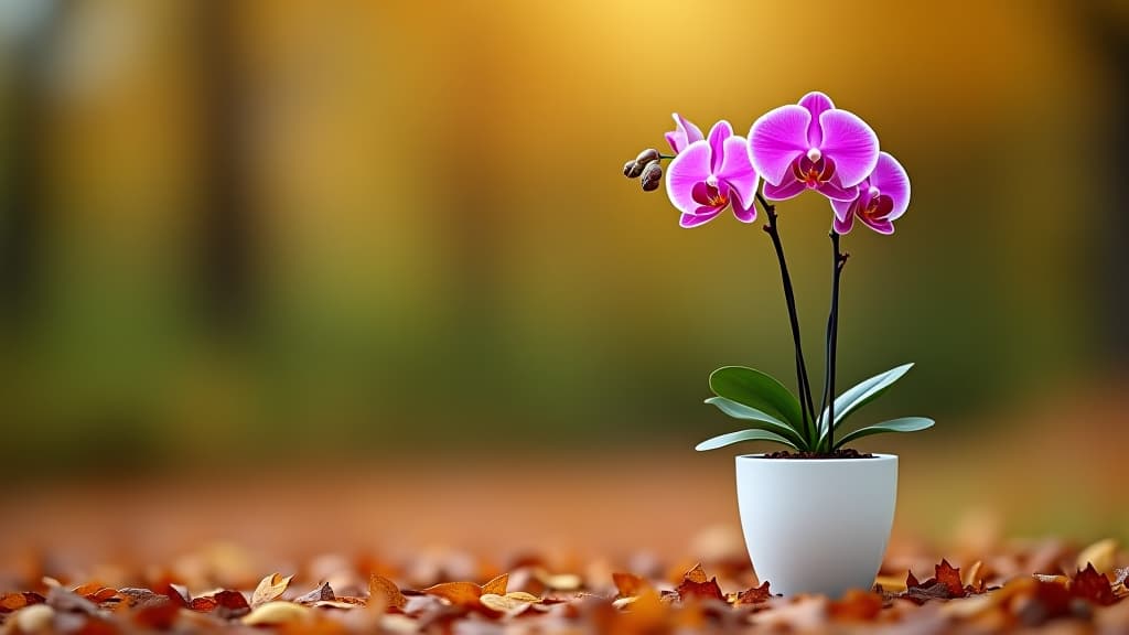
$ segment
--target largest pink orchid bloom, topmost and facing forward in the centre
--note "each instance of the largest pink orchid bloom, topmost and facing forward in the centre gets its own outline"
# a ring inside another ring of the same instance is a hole
[[[823,93],[769,111],[749,131],[750,159],[764,177],[764,197],[782,201],[815,190],[852,201],[874,171],[878,137],[858,115],[837,108]]]

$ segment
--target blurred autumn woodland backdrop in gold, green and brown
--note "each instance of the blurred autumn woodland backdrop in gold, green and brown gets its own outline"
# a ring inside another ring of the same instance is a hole
[[[711,369],[793,377],[774,256],[620,167],[813,89],[914,186],[844,240],[839,353],[918,364],[858,423],[938,421],[866,444],[899,530],[1129,538],[1118,0],[2,0],[0,534],[736,523],[691,447],[735,426]],[[829,211],[781,206],[815,376]]]

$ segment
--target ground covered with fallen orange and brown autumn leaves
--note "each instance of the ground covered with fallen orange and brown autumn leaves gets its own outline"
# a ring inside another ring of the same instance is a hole
[[[1129,633],[1129,554],[1112,540],[962,558],[894,553],[874,588],[842,598],[774,595],[737,545],[690,567],[449,551],[326,555],[263,573],[230,546],[99,573],[41,558],[0,589],[0,633]]]

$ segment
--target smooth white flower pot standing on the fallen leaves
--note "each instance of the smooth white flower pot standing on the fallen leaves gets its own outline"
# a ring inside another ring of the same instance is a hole
[[[737,504],[758,577],[773,593],[870,589],[898,498],[898,456],[737,456]]]

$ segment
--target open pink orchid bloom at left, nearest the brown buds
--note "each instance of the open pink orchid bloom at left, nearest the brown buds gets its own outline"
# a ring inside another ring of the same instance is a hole
[[[679,119],[675,115],[675,121]],[[686,132],[697,132],[697,128],[686,128]],[[714,124],[708,139],[698,134],[698,140],[677,150],[667,171],[666,194],[682,212],[679,224],[697,227],[709,223],[730,205],[738,220],[752,223],[756,219],[753,199],[760,179],[749,159],[749,142],[734,136],[727,121]],[[677,147],[674,140],[671,145]]]

